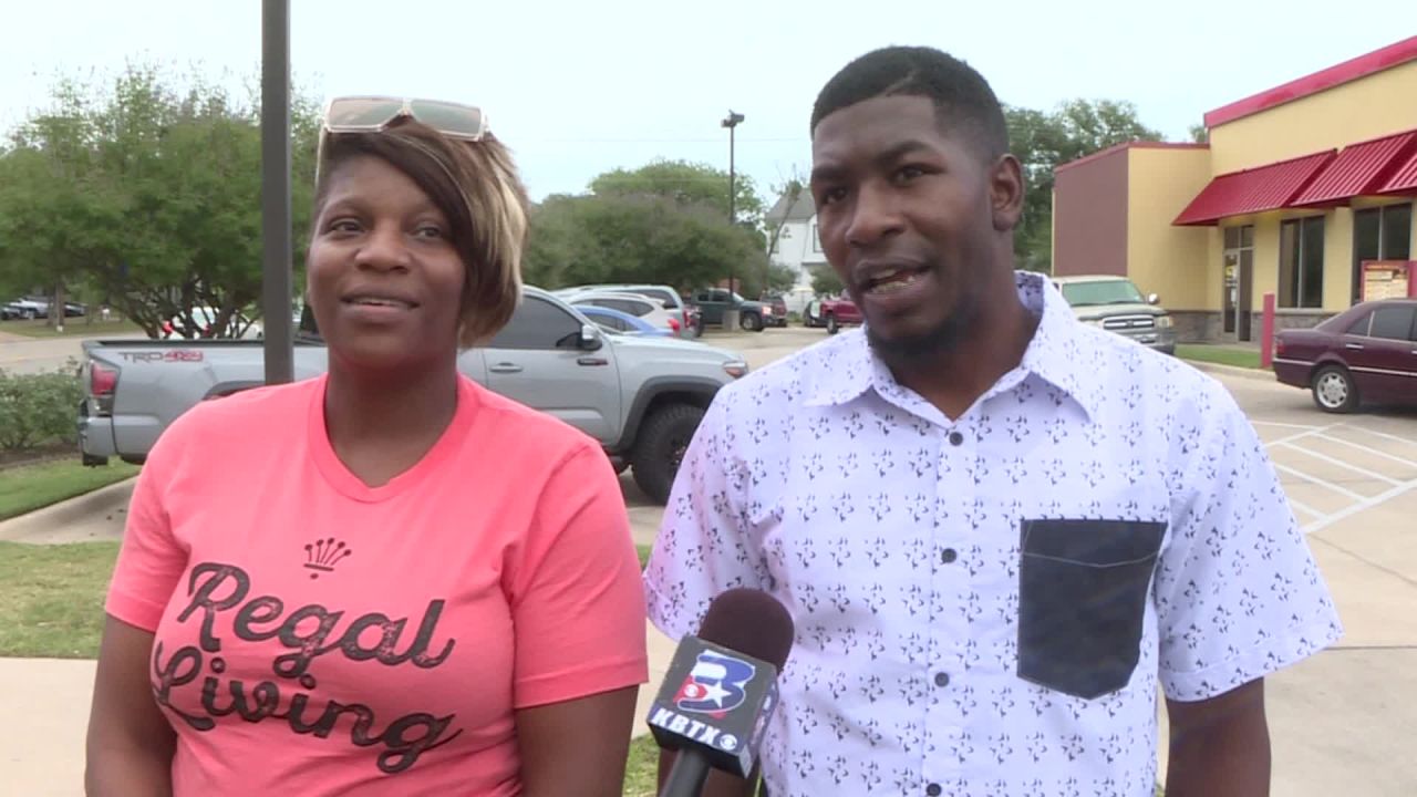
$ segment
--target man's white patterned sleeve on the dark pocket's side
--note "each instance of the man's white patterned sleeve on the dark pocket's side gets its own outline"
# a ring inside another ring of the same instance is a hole
[[[1275,469],[1230,394],[1178,418],[1172,539],[1156,576],[1161,682],[1203,701],[1289,667],[1342,635]]]

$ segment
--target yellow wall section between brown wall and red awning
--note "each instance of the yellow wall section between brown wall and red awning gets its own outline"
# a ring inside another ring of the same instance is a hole
[[[1204,227],[1172,220],[1210,180],[1206,149],[1132,147],[1127,163],[1127,275],[1173,311],[1206,306]]]

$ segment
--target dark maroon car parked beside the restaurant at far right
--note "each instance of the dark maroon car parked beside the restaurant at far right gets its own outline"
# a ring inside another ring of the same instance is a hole
[[[1417,406],[1417,299],[1363,302],[1274,339],[1274,376],[1314,391],[1328,413]]]

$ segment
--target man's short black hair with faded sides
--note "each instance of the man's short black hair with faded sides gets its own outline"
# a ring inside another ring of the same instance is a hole
[[[826,116],[877,96],[928,98],[944,129],[965,130],[989,160],[1009,152],[1009,126],[989,82],[932,47],[884,47],[843,67],[816,96],[811,132]]]

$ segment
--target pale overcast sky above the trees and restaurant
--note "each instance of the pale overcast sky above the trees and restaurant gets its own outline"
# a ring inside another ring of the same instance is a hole
[[[292,0],[292,71],[319,99],[394,94],[483,106],[534,199],[655,157],[728,165],[767,194],[806,173],[822,84],[886,44],[969,61],[1000,99],[1047,109],[1128,99],[1168,139],[1206,111],[1417,33],[1411,0],[1363,4],[1190,0],[673,3]],[[256,81],[258,0],[7,0],[0,128],[44,105],[58,77],[111,78],[129,60]],[[1408,23],[1400,21],[1407,18]],[[767,197],[771,201],[771,197]]]

